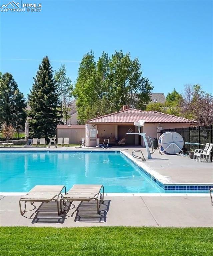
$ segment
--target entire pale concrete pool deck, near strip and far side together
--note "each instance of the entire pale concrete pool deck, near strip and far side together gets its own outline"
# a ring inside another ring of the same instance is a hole
[[[213,184],[213,164],[196,162],[180,155],[152,154],[153,159],[143,162],[132,158],[132,151],[141,147],[119,147],[121,150],[154,177],[166,183],[208,183]],[[0,148],[1,151],[88,151],[97,148]],[[101,151],[101,150],[100,150]],[[103,151],[103,150],[102,150]],[[107,152],[107,150],[104,150]],[[26,193],[19,193],[26,194]],[[174,226],[174,227],[213,227],[213,207],[209,194],[106,194],[97,215],[95,202],[74,202],[67,214],[58,216],[54,202],[35,203],[36,209],[28,203],[24,216],[19,212],[17,193],[0,195],[0,226]],[[40,207],[39,207],[40,206]],[[79,207],[78,207],[79,206]],[[76,207],[78,207],[76,211]],[[33,214],[33,215],[32,215]],[[32,217],[30,218],[30,216]]]

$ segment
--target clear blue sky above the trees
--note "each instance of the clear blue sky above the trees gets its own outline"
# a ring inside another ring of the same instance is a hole
[[[0,13],[0,70],[25,96],[44,56],[54,70],[64,63],[74,82],[90,50],[96,58],[115,50],[138,57],[153,92],[181,92],[187,83],[213,91],[212,1],[22,2],[42,3],[42,11]]]

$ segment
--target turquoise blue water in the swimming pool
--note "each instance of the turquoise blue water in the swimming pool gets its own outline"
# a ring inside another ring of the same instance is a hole
[[[108,193],[164,190],[120,153],[1,152],[0,192],[28,192],[35,185],[103,184]]]

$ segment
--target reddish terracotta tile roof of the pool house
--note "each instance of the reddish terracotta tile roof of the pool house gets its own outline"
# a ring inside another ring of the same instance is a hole
[[[157,111],[142,111],[133,108],[93,118],[88,120],[87,123],[133,123],[140,119],[145,119],[146,123],[197,123],[194,120],[179,116]]]

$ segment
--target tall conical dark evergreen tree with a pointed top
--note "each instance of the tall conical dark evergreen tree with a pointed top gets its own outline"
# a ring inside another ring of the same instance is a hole
[[[45,137],[47,140],[56,134],[56,126],[61,118],[59,92],[47,56],[43,58],[33,79],[33,87],[28,95],[30,135],[38,138]]]

